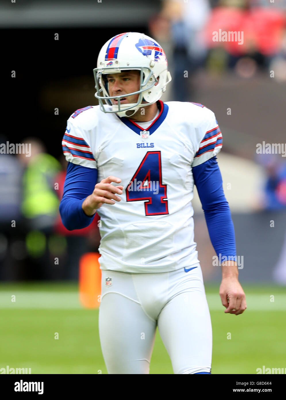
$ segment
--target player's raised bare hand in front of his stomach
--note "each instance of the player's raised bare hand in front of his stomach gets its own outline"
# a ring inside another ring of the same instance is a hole
[[[116,194],[123,193],[123,186],[114,186],[111,182],[120,183],[121,179],[116,176],[109,176],[94,186],[93,192],[87,196],[81,206],[86,215],[95,214],[102,204],[115,204],[115,201],[121,200]]]

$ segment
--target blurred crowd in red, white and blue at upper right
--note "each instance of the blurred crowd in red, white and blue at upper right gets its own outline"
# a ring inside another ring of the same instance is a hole
[[[151,37],[170,55],[172,99],[189,101],[191,87],[182,70],[192,76],[200,68],[253,77],[275,70],[286,81],[286,2],[284,0],[166,0],[151,18]],[[215,41],[213,32],[243,32],[240,41]],[[173,62],[172,62],[173,61]]]

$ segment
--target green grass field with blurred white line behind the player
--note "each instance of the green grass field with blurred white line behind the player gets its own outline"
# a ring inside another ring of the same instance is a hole
[[[218,285],[206,285],[213,324],[213,374],[256,374],[263,365],[286,368],[286,288],[243,288],[248,308],[235,316],[224,314]],[[98,310],[81,307],[77,284],[2,282],[0,319],[0,368],[31,368],[32,374],[107,374]],[[173,374],[158,331],[150,373]]]

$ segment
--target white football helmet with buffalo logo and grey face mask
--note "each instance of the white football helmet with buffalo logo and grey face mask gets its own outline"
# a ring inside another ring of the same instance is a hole
[[[108,40],[101,48],[94,68],[96,93],[103,112],[116,112],[119,117],[130,117],[140,108],[155,103],[171,82],[167,70],[168,63],[164,50],[149,36],[138,32],[125,32]],[[124,70],[140,70],[140,87],[133,93],[109,96],[106,74],[116,74]],[[159,80],[159,82],[158,82]],[[158,84],[155,86],[155,83]],[[120,99],[139,94],[137,103],[120,104]],[[118,104],[112,104],[116,98]],[[103,107],[103,100],[112,107]],[[143,103],[146,101],[147,103]]]

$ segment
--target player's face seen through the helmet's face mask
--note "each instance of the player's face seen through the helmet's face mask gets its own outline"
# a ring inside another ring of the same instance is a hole
[[[108,92],[109,96],[116,96],[126,93],[133,93],[140,87],[140,71],[129,70],[120,72],[120,74],[108,74]],[[139,94],[126,96],[120,100],[120,104],[136,103]],[[112,104],[118,104],[117,99],[111,99]]]

